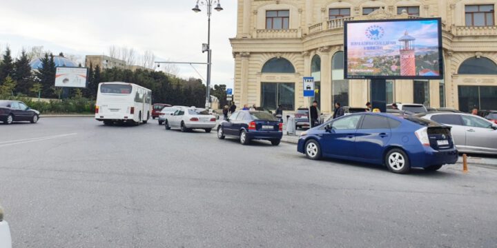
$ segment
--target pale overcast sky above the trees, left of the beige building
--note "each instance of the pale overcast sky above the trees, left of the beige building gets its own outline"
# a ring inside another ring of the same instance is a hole
[[[195,13],[195,0],[0,0],[0,47],[14,55],[22,48],[43,45],[55,54],[108,54],[110,45],[151,50],[157,59],[206,62],[206,8]],[[222,0],[213,12],[211,49],[213,84],[233,85],[229,38],[236,33],[234,0]],[[195,65],[206,78],[206,66]],[[190,65],[179,76],[200,76]]]

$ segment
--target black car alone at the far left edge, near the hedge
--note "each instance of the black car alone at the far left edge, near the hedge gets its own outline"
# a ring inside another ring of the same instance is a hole
[[[0,121],[11,124],[14,121],[30,121],[37,123],[39,112],[32,110],[21,101],[0,101]]]

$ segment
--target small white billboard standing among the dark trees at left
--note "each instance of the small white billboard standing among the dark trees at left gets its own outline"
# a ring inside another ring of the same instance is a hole
[[[55,87],[86,87],[88,68],[58,67],[55,72]]]

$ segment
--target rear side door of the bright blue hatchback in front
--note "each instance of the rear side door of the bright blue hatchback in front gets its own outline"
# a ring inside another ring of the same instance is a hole
[[[390,138],[389,118],[379,114],[365,114],[355,133],[355,151],[358,158],[381,163],[384,148]]]

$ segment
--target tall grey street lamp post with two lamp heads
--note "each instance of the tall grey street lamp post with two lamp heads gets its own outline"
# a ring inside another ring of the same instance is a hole
[[[197,0],[195,8],[192,10],[195,12],[200,12],[199,6],[206,6],[207,8],[207,18],[208,18],[208,28],[207,28],[207,44],[202,46],[202,52],[207,52],[207,90],[206,90],[206,109],[211,107],[211,14],[213,5],[217,4],[214,10],[218,12],[223,10],[221,7],[220,0]]]

